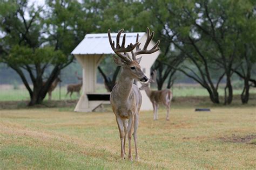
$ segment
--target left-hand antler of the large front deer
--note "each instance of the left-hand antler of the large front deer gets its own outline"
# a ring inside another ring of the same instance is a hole
[[[130,60],[128,58],[127,52],[131,52],[139,44],[139,42],[136,41],[136,43],[134,45],[132,43],[130,43],[130,45],[125,47],[126,34],[124,34],[122,45],[120,46],[119,40],[120,40],[120,36],[121,36],[123,31],[124,31],[124,29],[120,30],[117,34],[117,45],[116,45],[116,47],[114,47],[114,41],[112,41],[112,38],[111,38],[111,35],[110,35],[110,30],[107,31],[107,34],[109,36],[109,42],[110,42],[111,48],[113,49],[114,53],[116,53],[124,61],[129,62]],[[122,54],[122,53],[124,53],[124,54]]]

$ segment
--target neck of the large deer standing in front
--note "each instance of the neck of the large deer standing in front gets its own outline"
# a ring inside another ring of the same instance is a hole
[[[133,79],[122,69],[117,83],[117,92],[120,100],[127,101],[132,91]]]

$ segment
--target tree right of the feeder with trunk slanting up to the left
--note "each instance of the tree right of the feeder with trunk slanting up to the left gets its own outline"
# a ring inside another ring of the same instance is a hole
[[[218,84],[224,73],[219,75],[219,80],[214,86],[209,67],[209,43],[206,45],[203,42],[204,36],[195,36],[194,32],[200,31],[193,26],[197,18],[192,18],[186,12],[187,9],[194,10],[196,8],[194,2],[159,1],[155,6],[158,8],[152,7],[152,10],[157,18],[158,24],[155,25],[161,25],[160,36],[174,45],[174,51],[180,52],[179,55],[176,55],[177,57],[183,56],[186,59],[185,63],[187,64],[183,64],[177,69],[206,88],[213,103],[219,103]],[[193,15],[197,16],[197,13]],[[200,35],[199,32],[197,34]],[[170,63],[165,63],[172,67]],[[187,66],[191,64],[196,66],[197,70]]]

